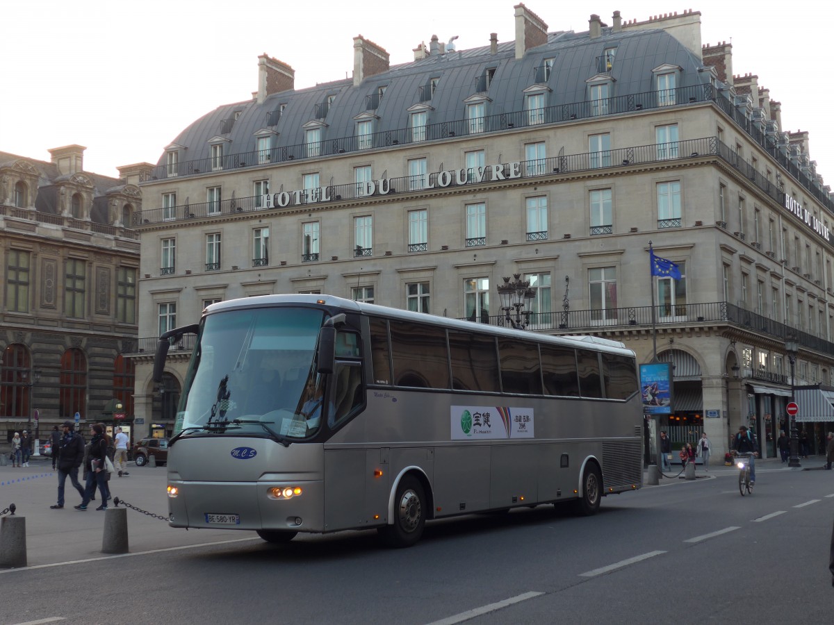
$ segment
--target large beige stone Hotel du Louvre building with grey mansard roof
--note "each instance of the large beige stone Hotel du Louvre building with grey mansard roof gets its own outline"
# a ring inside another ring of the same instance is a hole
[[[531,331],[674,365],[675,411],[652,428],[706,429],[718,451],[747,423],[776,453],[786,340],[797,384],[827,392],[834,364],[834,203],[806,134],[732,74],[730,44],[701,42],[700,13],[585,32],[514,18],[513,42],[435,36],[393,67],[355,37],[354,76],[305,89],[264,55],[251,99],[164,149],[134,221],[138,415],[170,433],[190,346],[169,353],[168,413],[153,346],[208,303],[332,293],[504,323],[496,287],[517,273]],[[651,276],[650,245],[680,280]]]

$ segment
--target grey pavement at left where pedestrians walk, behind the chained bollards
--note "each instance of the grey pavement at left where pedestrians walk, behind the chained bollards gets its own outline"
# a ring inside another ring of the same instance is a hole
[[[81,480],[81,470],[78,479]],[[130,475],[118,478],[113,473],[109,487],[113,498],[127,501],[133,506],[168,517],[166,469],[128,465]],[[82,483],[83,485],[83,483]],[[0,512],[14,503],[15,515],[26,517],[26,546],[28,566],[69,562],[103,557],[101,552],[104,517],[107,512],[95,508],[101,504],[91,502],[86,511],[73,506],[81,503],[78,492],[67,479],[64,489],[64,507],[51,510],[58,498],[58,472],[53,471],[52,459],[31,458],[28,467],[13,468],[11,463],[0,466]],[[113,502],[108,502],[113,507]],[[121,507],[121,506],[120,506]],[[5,517],[7,515],[4,515]],[[0,518],[3,518],[0,517]],[[128,542],[130,552],[181,547],[204,542],[224,542],[241,538],[257,538],[255,532],[214,529],[190,529],[168,527],[167,520],[160,520],[128,509]],[[0,568],[0,574],[7,569]]]

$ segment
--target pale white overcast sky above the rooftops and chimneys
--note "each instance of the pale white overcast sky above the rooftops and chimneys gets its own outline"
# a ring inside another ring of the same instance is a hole
[[[817,172],[834,185],[830,12],[818,2],[526,0],[548,29],[588,30],[590,13],[611,25],[661,13],[701,12],[701,40],[733,46],[733,72],[755,73],[782,105],[784,131],[810,133]],[[517,0],[345,2],[345,0],[29,0],[7,7],[0,37],[0,151],[48,161],[48,148],[87,147],[84,168],[157,163],[183,128],[257,89],[266,52],[295,69],[295,86],[349,76],[353,37],[378,43],[391,64],[412,49],[458,35],[458,49],[515,37]],[[830,42],[829,42],[830,43]]]

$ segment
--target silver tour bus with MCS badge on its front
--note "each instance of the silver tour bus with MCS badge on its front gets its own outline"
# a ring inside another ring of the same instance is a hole
[[[375,527],[414,544],[430,519],[641,487],[635,354],[327,295],[212,304],[168,442],[173,527]]]

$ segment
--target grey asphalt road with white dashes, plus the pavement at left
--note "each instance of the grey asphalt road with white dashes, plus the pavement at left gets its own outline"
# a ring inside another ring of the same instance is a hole
[[[33,507],[30,566],[0,570],[0,623],[827,624],[834,472],[782,467],[760,462],[745,498],[714,470],[605,498],[590,518],[541,506],[435,522],[399,550],[374,532],[276,546],[129,511],[118,557],[98,552],[103,512],[49,511],[54,478],[32,478],[0,486],[0,509]],[[164,469],[131,473],[113,493],[164,513]]]

